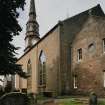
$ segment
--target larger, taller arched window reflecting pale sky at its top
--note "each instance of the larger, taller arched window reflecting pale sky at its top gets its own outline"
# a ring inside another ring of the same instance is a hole
[[[39,85],[46,85],[46,56],[43,51],[39,56]]]

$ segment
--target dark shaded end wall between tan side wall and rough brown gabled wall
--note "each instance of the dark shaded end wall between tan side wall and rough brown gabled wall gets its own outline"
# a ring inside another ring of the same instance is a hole
[[[61,94],[71,94],[71,44],[78,32],[83,28],[88,15],[81,13],[60,22],[60,80]]]

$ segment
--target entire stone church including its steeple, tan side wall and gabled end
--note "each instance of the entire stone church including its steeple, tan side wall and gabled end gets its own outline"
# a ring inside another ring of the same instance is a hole
[[[105,14],[97,5],[59,21],[42,38],[30,1],[22,64],[29,78],[15,76],[20,91],[49,95],[105,94]]]

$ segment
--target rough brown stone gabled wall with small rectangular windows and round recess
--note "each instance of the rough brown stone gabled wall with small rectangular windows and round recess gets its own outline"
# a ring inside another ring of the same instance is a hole
[[[105,38],[105,18],[90,16],[72,44],[72,74],[77,75],[77,89],[73,89],[73,93],[88,94],[94,90],[98,95],[105,94],[103,38]],[[77,50],[80,48],[82,60],[78,61]]]

